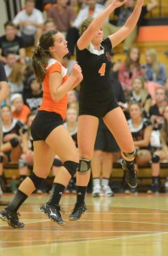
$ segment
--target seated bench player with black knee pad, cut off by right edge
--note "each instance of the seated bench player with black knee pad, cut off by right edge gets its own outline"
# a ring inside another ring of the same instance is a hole
[[[164,123],[160,130],[162,147],[155,151],[152,157],[152,184],[148,189],[148,194],[159,193],[160,191],[160,160],[168,162],[168,106],[163,112]]]

